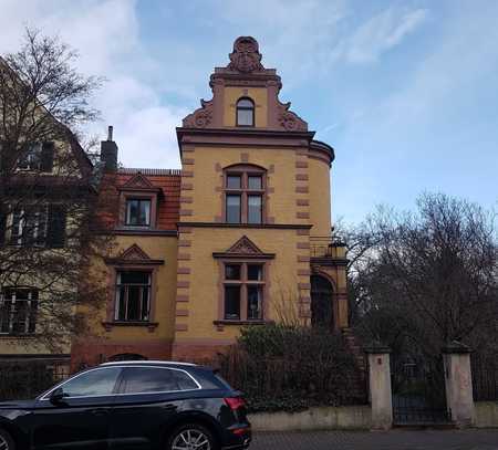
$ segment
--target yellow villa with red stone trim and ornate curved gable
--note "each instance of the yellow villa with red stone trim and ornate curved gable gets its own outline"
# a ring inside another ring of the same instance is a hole
[[[279,101],[255,39],[236,40],[210,86],[212,100],[177,128],[181,171],[118,169],[117,146],[103,143],[117,245],[96,263],[108,303],[94,336],[74,341],[74,366],[208,358],[241,326],[273,321],[347,327],[344,249],[331,238],[334,150]]]

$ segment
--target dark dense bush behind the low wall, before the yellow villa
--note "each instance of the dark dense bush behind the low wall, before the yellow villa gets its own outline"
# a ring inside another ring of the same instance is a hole
[[[366,402],[364,374],[342,336],[328,329],[250,326],[219,355],[218,366],[245,394],[250,412]]]

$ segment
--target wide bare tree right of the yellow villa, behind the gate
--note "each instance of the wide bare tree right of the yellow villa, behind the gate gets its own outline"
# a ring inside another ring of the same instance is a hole
[[[417,212],[380,208],[351,279],[356,326],[394,350],[437,355],[458,341],[498,343],[496,214],[466,200],[423,195]]]

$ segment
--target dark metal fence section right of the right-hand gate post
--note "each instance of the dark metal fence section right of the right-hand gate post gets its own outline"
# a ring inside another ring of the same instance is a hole
[[[498,400],[498,356],[473,355],[473,389],[475,401]]]

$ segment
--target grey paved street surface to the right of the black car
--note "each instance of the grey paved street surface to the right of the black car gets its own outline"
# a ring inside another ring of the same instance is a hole
[[[259,432],[251,450],[498,450],[498,430]]]

